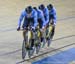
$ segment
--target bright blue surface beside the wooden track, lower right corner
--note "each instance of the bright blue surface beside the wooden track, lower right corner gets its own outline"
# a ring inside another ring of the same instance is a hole
[[[48,56],[41,60],[32,62],[32,64],[69,64],[75,61],[75,48]]]

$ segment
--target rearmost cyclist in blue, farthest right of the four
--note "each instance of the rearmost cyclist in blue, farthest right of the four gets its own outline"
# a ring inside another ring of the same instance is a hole
[[[48,10],[49,10],[49,22],[53,25],[53,29],[52,29],[52,34],[51,34],[51,39],[54,36],[55,33],[55,26],[56,26],[56,9],[55,7],[53,7],[52,4],[49,4],[47,6]]]

